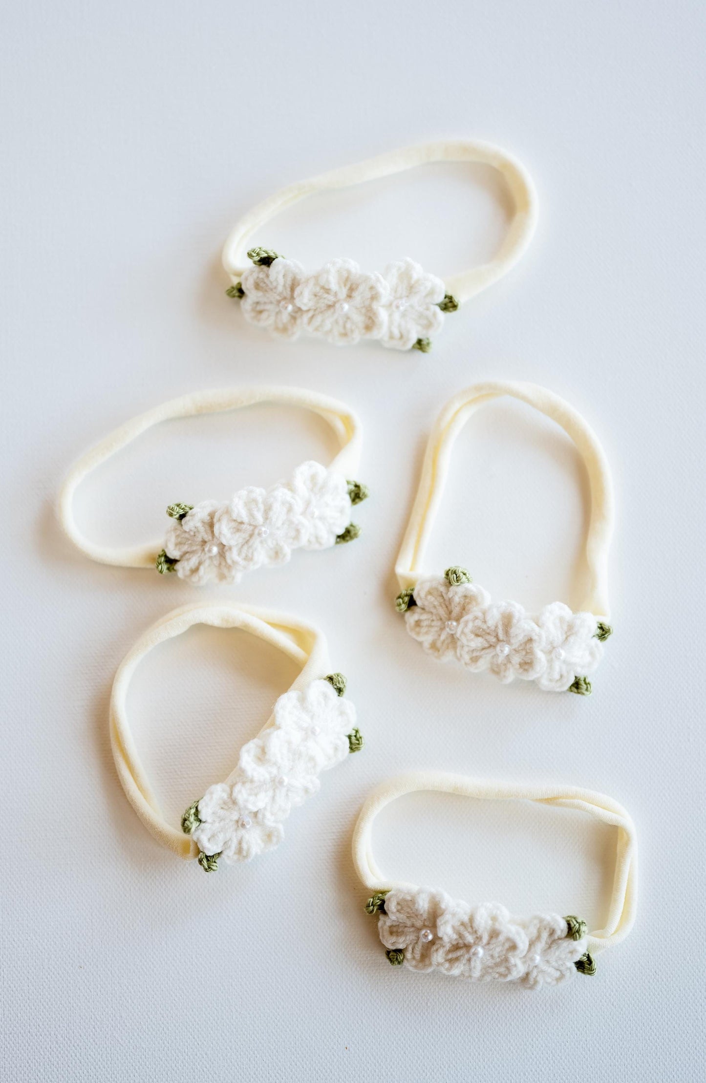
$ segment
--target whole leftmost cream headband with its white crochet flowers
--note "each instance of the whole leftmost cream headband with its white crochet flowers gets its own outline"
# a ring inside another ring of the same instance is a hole
[[[226,504],[170,504],[167,514],[171,523],[164,542],[113,549],[83,537],[74,519],[74,494],[97,466],[160,421],[218,414],[254,403],[301,406],[323,417],[341,445],[330,467],[302,462],[288,481],[270,490],[249,485],[238,490]],[[343,403],[312,391],[249,388],[183,395],[128,421],[79,459],[60,495],[60,520],[81,552],[102,564],[156,567],[161,574],[176,572],[196,586],[237,583],[244,572],[263,564],[286,563],[292,549],[328,549],[358,536],[361,527],[351,522],[351,508],[368,495],[365,485],[352,480],[361,458],[361,440],[355,414]]]

